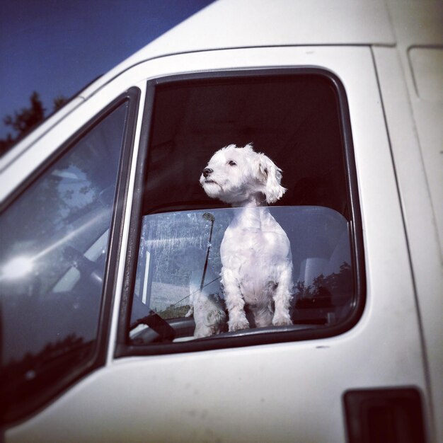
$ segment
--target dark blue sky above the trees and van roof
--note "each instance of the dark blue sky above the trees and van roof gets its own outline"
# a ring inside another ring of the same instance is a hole
[[[213,0],[0,0],[0,137],[33,91],[52,112]]]

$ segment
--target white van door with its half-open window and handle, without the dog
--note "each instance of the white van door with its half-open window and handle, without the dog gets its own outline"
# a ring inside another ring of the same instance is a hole
[[[143,108],[110,238],[107,358],[6,442],[361,442],[369,425],[371,441],[422,441],[420,328],[369,47],[178,54],[102,93],[130,86]],[[198,178],[214,151],[248,143],[287,188],[270,211],[291,242],[294,324],[195,338],[190,296],[222,299],[236,211]]]

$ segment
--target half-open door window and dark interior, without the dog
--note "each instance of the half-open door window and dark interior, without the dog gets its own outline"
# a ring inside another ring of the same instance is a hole
[[[151,117],[134,202],[134,259],[128,261],[130,304],[122,309],[117,354],[318,338],[355,324],[364,274],[340,81],[321,69],[288,69],[162,79],[148,89]],[[223,304],[219,248],[238,211],[207,197],[198,179],[215,151],[248,143],[283,171],[287,192],[270,212],[291,243],[294,324],[251,323],[195,336],[195,294]]]

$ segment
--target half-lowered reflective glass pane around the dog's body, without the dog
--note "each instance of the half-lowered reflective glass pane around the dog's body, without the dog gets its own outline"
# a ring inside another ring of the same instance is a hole
[[[236,210],[168,212],[143,218],[132,338],[146,328],[135,328],[137,320],[149,313],[173,325],[177,322],[171,319],[195,316],[192,301],[196,294],[205,292],[222,301],[219,249]],[[347,220],[326,207],[270,207],[270,212],[291,242],[294,324],[343,320],[353,297]]]

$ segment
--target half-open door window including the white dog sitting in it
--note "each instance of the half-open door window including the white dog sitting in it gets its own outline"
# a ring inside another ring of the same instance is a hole
[[[163,79],[149,94],[122,355],[315,338],[355,324],[364,274],[340,81],[321,69],[243,72]],[[250,179],[255,193],[241,200]],[[245,211],[260,223],[245,228]]]

